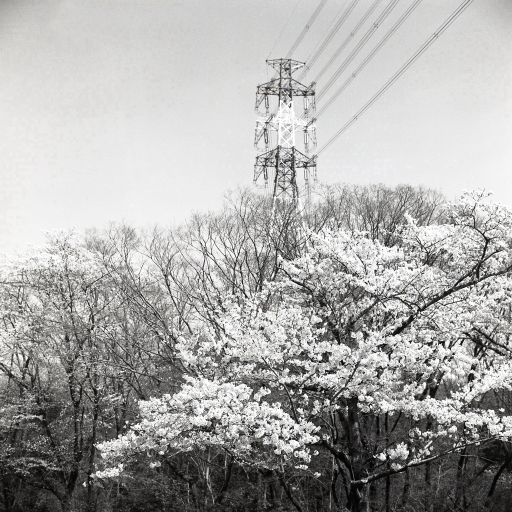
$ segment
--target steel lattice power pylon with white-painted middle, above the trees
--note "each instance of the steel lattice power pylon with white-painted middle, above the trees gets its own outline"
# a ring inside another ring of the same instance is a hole
[[[297,169],[303,169],[304,182],[308,187],[311,177],[316,178],[316,156],[309,151],[316,146],[314,119],[308,121],[314,112],[314,84],[305,86],[292,78],[292,73],[305,63],[292,59],[267,60],[279,76],[258,86],[256,92],[256,111],[265,118],[258,119],[254,146],[265,149],[265,153],[256,157],[254,165],[254,183],[263,176],[265,187],[271,195],[275,208],[278,202],[291,202],[300,209]],[[277,96],[278,105],[270,113],[270,96]],[[303,97],[304,118],[294,113],[293,98]],[[262,112],[264,106],[264,112]],[[295,132],[304,134],[304,153],[297,150]]]

